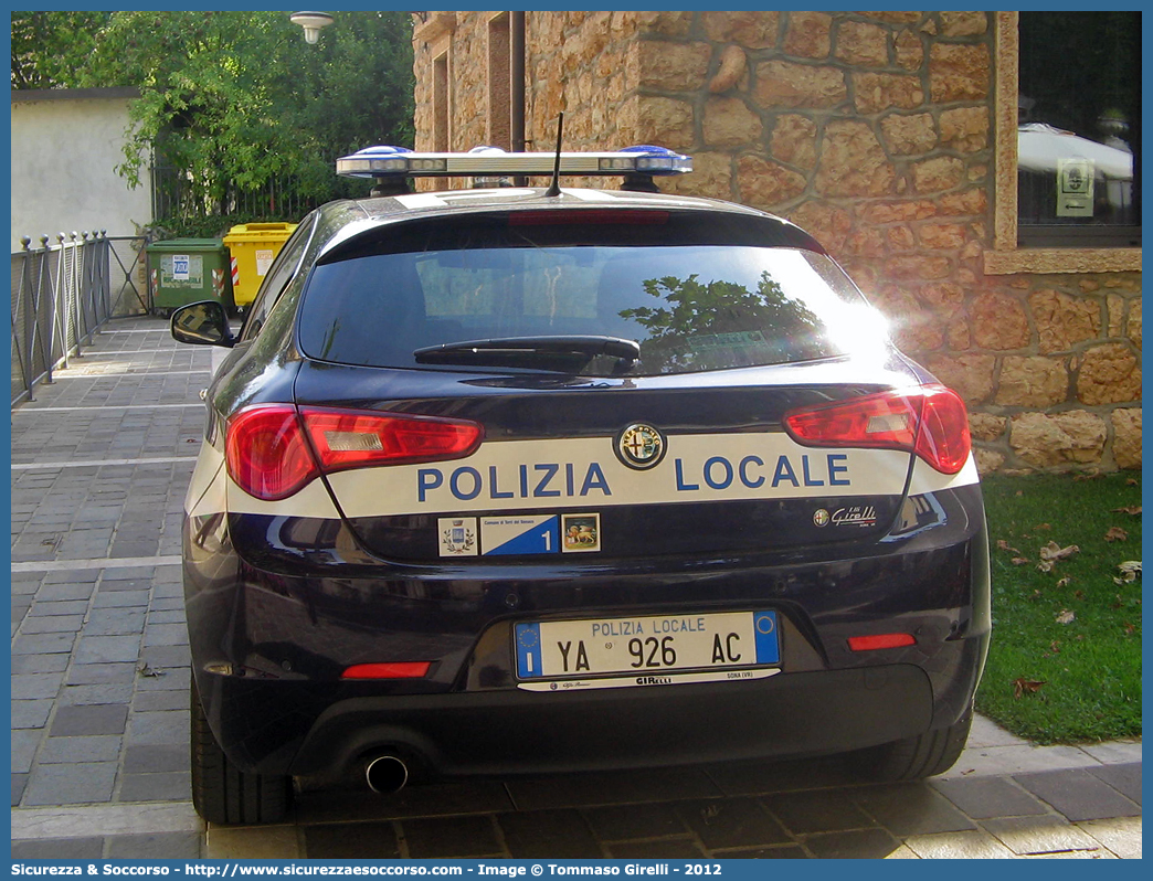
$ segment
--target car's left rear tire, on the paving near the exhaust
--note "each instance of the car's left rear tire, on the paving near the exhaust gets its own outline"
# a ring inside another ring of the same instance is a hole
[[[253,774],[233,765],[217,743],[196,690],[191,685],[193,806],[210,823],[276,823],[292,806],[292,777]]]

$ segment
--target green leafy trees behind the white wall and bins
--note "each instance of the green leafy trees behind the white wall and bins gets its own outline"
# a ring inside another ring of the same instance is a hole
[[[35,23],[22,21],[22,70],[62,86],[140,88],[119,171],[136,186],[155,152],[176,170],[179,213],[229,213],[238,194],[272,181],[324,202],[348,189],[333,172],[338,156],[412,144],[407,13],[339,13],[315,46],[284,12],[116,12],[73,24],[68,39],[61,25],[38,43]],[[61,43],[68,69],[48,58]],[[16,67],[14,42],[14,83]]]

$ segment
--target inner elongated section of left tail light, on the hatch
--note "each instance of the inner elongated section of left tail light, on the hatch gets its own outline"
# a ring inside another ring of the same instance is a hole
[[[319,407],[300,413],[325,473],[459,459],[484,439],[484,429],[465,420]]]

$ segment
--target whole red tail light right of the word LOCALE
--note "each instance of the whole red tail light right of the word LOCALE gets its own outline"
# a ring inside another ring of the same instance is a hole
[[[942,474],[964,468],[972,447],[965,404],[943,385],[794,409],[785,414],[784,427],[805,446],[905,450]]]

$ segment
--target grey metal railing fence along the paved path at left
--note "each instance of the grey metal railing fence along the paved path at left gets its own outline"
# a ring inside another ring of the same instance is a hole
[[[110,318],[145,315],[152,292],[141,271],[143,235],[56,235],[40,247],[21,239],[12,255],[12,406],[33,400],[38,383],[83,354]]]

